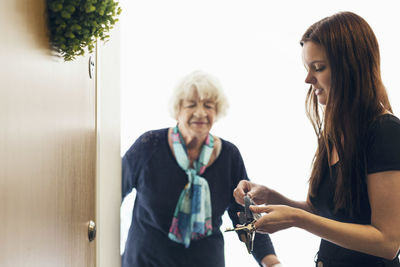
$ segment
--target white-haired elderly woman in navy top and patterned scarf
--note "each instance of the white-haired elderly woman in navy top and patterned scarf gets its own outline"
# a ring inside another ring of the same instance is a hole
[[[136,200],[123,267],[223,267],[222,215],[239,223],[233,189],[248,179],[238,148],[210,134],[227,101],[212,76],[199,71],[177,86],[177,125],[140,136],[123,157],[122,197]],[[268,235],[256,234],[253,256],[279,264]]]

